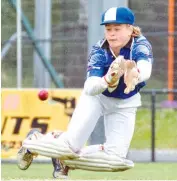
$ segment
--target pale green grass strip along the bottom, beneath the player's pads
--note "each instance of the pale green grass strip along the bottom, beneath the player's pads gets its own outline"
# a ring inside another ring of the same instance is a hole
[[[16,164],[2,164],[1,180],[53,180],[51,164],[33,164],[28,170],[19,170]],[[137,163],[125,172],[71,171],[71,180],[176,180],[177,163]]]

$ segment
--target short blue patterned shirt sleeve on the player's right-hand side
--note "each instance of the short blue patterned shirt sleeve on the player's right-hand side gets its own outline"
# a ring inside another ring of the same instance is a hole
[[[142,42],[135,45],[132,50],[132,59],[136,62],[140,60],[147,60],[148,62],[153,63],[153,53],[150,43]]]

